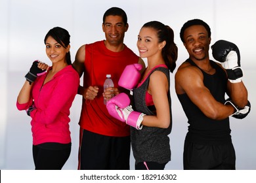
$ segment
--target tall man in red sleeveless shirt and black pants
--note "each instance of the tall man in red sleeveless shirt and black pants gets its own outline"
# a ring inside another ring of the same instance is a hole
[[[112,7],[103,16],[106,40],[84,44],[77,50],[73,67],[80,77],[83,75],[83,86],[78,90],[83,95],[78,169],[129,169],[129,126],[110,116],[104,105],[104,98],[124,92],[118,80],[126,65],[140,63],[144,67],[142,59],[123,43],[128,27],[126,13]],[[104,91],[106,75],[112,76],[114,87]]]

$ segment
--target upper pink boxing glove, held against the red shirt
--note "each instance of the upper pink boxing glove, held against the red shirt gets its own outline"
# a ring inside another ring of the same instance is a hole
[[[139,83],[141,76],[139,71],[141,69],[142,65],[139,63],[127,65],[119,78],[118,85],[128,90],[133,90]]]

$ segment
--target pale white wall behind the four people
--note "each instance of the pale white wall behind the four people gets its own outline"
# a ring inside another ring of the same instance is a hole
[[[179,31],[187,20],[200,18],[210,25],[212,43],[219,39],[234,42],[240,48],[244,83],[249,91],[251,113],[244,120],[230,118],[232,139],[236,149],[237,169],[256,169],[256,118],[253,107],[253,78],[255,78],[255,20],[253,0],[0,0],[0,169],[33,169],[32,134],[30,118],[16,109],[16,97],[24,83],[33,60],[41,59],[51,64],[45,54],[43,39],[49,29],[60,26],[71,35],[71,54],[82,44],[104,39],[102,16],[110,7],[121,7],[127,12],[129,30],[125,44],[135,53],[140,27],[151,20],[170,25],[175,31],[179,47],[177,66],[188,54]],[[176,70],[175,70],[176,71]],[[174,72],[175,74],[175,72]],[[166,169],[182,169],[182,150],[187,131],[187,119],[174,90],[171,75],[173,100],[173,131],[171,132],[172,160]],[[71,109],[72,154],[64,169],[77,169],[77,150],[81,96],[75,97]],[[131,156],[131,169],[134,159]]]

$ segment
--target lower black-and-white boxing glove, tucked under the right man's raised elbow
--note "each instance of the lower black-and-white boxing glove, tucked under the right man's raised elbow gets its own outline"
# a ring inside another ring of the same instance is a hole
[[[244,119],[251,111],[251,103],[249,101],[244,108],[236,107],[236,105],[234,105],[230,98],[226,99],[226,102],[224,104],[230,104],[235,108],[236,111],[233,114],[231,114],[231,116],[237,119]]]

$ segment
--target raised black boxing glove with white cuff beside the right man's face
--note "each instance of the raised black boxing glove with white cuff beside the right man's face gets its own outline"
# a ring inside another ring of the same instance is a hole
[[[243,71],[240,67],[240,52],[236,44],[219,40],[211,46],[213,58],[221,62],[226,69],[228,80],[232,83],[241,82]]]

